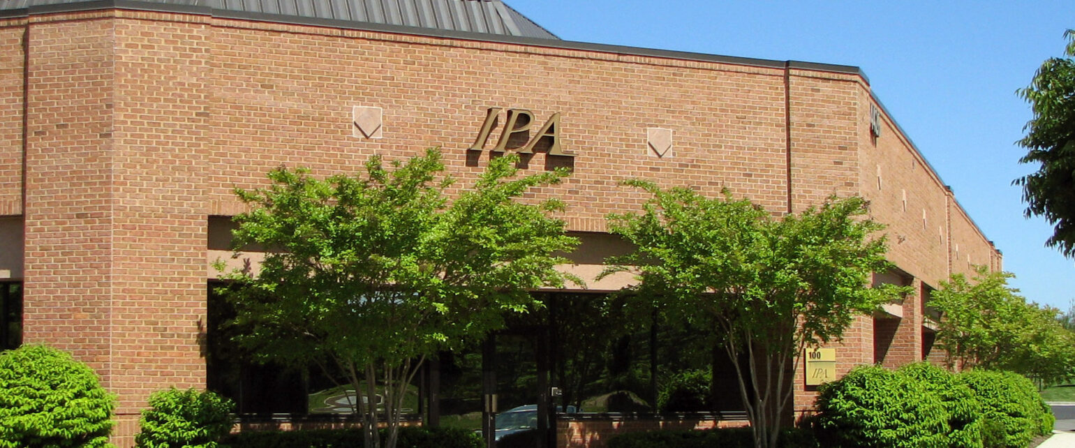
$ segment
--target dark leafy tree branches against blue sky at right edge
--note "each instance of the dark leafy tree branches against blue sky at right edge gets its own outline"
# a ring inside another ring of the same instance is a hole
[[[1064,38],[1067,57],[1047,59],[1030,86],[1019,89],[1034,111],[1019,141],[1029,149],[1019,162],[1040,167],[1014,184],[1022,186],[1026,215],[1055,226],[1046,244],[1075,257],[1075,30]]]

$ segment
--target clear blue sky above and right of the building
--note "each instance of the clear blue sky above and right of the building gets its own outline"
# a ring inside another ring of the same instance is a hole
[[[1075,28],[1075,1],[505,0],[569,41],[857,66],[1028,300],[1067,309],[1075,261],[1044,247],[1012,180],[1030,107],[1015,90]]]

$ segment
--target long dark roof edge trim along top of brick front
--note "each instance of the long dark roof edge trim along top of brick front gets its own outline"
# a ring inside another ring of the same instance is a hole
[[[838,66],[830,63],[803,62],[803,61],[778,61],[771,59],[746,58],[736,56],[708,55],[703,53],[641,48],[641,47],[624,46],[624,45],[593,44],[586,42],[488,34],[488,33],[470,32],[470,31],[438,30],[431,28],[407,27],[401,25],[385,25],[385,24],[374,24],[374,23],[338,20],[338,19],[328,19],[319,17],[298,17],[298,16],[280,15],[280,14],[218,10],[218,9],[213,9],[211,6],[157,3],[157,2],[146,2],[138,0],[97,0],[97,1],[86,1],[76,3],[35,5],[17,10],[0,11],[0,18],[27,17],[37,14],[95,11],[95,10],[108,10],[108,9],[187,13],[187,14],[209,15],[220,18],[272,21],[272,23],[289,24],[289,25],[312,25],[319,27],[354,29],[363,31],[383,31],[383,32],[401,33],[401,34],[425,35],[431,38],[463,39],[463,40],[493,42],[493,43],[543,46],[549,48],[614,53],[614,54],[630,55],[630,56],[646,56],[656,58],[693,60],[702,62],[720,62],[720,63],[731,63],[739,66],[766,67],[773,69],[791,68],[791,69],[817,70],[825,72],[858,75],[862,77],[862,80],[866,81],[866,83],[869,83],[865,73],[863,73],[862,70],[859,69],[858,67],[854,66]]]

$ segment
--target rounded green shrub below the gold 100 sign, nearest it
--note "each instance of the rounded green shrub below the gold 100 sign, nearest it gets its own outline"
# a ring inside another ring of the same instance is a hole
[[[921,381],[878,366],[856,367],[820,388],[815,428],[826,447],[944,447],[941,401]]]

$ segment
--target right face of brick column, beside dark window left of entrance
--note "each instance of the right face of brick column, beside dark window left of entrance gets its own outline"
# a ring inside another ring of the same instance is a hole
[[[112,390],[132,414],[205,385],[211,28],[116,20],[115,37]]]

